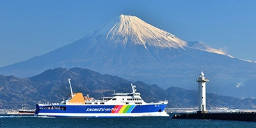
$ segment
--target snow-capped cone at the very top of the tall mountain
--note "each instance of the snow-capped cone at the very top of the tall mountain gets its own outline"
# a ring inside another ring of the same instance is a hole
[[[177,38],[175,35],[156,28],[135,16],[120,15],[109,20],[104,26],[95,31],[96,35],[103,35],[105,40],[112,43],[179,48],[186,45],[186,41]],[[95,32],[94,35],[95,36]]]

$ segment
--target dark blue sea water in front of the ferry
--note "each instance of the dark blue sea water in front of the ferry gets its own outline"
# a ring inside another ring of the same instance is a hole
[[[170,116],[68,118],[0,115],[0,127],[256,127],[256,122],[172,119]]]

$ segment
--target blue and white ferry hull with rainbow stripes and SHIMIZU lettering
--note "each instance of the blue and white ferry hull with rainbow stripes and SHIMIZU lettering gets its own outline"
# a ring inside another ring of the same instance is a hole
[[[37,116],[85,116],[85,117],[124,117],[124,116],[169,116],[166,104],[145,105],[36,105]]]

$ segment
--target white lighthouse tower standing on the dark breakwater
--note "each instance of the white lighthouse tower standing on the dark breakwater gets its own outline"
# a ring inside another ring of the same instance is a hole
[[[199,77],[196,79],[196,82],[198,82],[198,111],[197,111],[197,113],[207,113],[205,83],[208,81],[209,80],[204,77],[204,72],[201,72],[201,74],[199,74]]]

